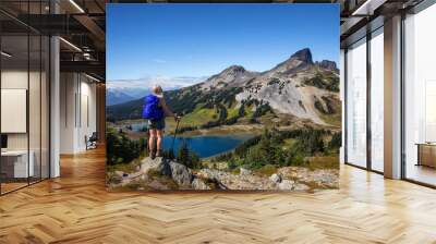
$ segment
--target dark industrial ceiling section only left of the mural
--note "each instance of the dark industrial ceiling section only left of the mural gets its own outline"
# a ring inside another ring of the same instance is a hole
[[[9,63],[28,59],[27,34],[60,36],[60,69],[85,72],[100,81],[106,73],[105,0],[1,0],[3,40],[14,56]],[[31,41],[32,44],[33,41]],[[24,47],[23,47],[24,45]],[[5,46],[3,46],[5,47]],[[31,48],[31,63],[36,49]]]

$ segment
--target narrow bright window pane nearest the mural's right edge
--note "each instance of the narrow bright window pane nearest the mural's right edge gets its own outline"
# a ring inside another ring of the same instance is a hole
[[[366,39],[347,51],[347,162],[366,168]]]

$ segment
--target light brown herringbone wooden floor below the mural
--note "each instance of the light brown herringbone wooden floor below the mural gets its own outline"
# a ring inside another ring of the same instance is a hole
[[[107,193],[105,155],[0,197],[0,243],[436,243],[436,191],[343,167],[341,190]]]

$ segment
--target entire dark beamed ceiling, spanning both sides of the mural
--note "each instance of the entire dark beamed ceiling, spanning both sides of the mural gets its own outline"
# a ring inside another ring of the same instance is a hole
[[[59,35],[61,71],[86,72],[100,80],[106,73],[106,3],[183,2],[278,2],[339,3],[341,42],[378,16],[408,9],[421,0],[1,0],[0,23],[3,35],[20,36],[28,30]],[[364,34],[362,34],[364,35]],[[13,41],[12,37],[10,37]],[[19,37],[15,37],[19,39]],[[20,40],[16,41],[20,45]]]

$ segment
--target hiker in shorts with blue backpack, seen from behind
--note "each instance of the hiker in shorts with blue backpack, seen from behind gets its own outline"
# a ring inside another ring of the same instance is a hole
[[[164,99],[162,87],[156,85],[153,87],[153,93],[145,97],[143,109],[143,118],[148,120],[148,148],[152,159],[162,156],[166,117],[173,117],[175,121],[180,120],[180,117],[167,107]],[[157,141],[157,148],[155,148],[155,141]]]

